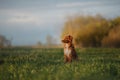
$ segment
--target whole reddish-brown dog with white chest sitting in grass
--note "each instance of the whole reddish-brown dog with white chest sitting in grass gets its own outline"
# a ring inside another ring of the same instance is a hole
[[[73,37],[71,35],[65,36],[65,38],[62,40],[62,43],[64,43],[65,63],[72,62],[73,59],[74,60],[78,59],[72,40],[73,40]]]

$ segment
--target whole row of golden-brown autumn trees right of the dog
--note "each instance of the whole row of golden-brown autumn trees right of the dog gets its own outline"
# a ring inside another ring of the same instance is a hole
[[[120,47],[120,17],[69,17],[64,23],[61,37],[67,34],[74,37],[74,43],[79,47]]]

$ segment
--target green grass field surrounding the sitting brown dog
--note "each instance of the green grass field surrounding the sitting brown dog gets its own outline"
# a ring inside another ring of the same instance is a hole
[[[120,49],[76,50],[65,64],[63,49],[0,49],[0,80],[120,80]]]

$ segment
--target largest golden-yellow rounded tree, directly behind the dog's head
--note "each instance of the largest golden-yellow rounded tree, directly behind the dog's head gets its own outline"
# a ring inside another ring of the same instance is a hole
[[[100,15],[76,16],[65,22],[62,36],[66,33],[72,35],[78,46],[99,47],[108,31],[108,21]]]

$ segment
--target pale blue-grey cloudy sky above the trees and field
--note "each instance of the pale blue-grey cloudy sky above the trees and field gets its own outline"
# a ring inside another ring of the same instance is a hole
[[[13,45],[45,43],[51,35],[60,43],[67,16],[120,16],[120,0],[0,0],[0,35]]]

